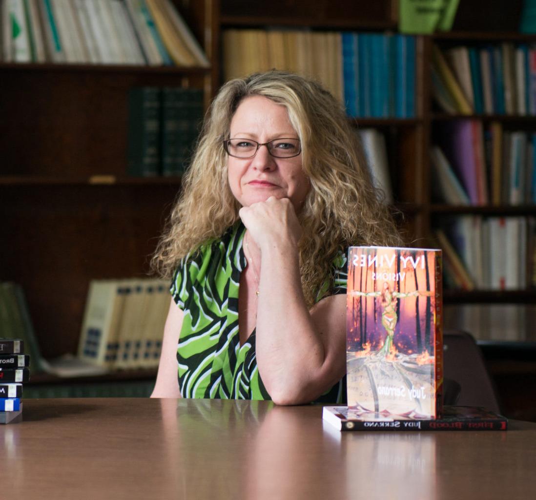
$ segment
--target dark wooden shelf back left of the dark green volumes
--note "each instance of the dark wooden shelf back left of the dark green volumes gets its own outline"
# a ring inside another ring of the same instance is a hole
[[[202,85],[203,76],[189,78]],[[128,89],[179,73],[4,69],[0,175],[124,175]]]

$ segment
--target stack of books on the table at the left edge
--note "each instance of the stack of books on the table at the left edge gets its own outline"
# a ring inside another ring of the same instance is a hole
[[[23,413],[23,382],[29,380],[24,340],[0,339],[0,423],[17,422]]]

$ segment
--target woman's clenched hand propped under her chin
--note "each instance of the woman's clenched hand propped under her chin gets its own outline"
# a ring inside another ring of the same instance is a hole
[[[270,196],[265,202],[242,207],[239,215],[261,252],[281,245],[297,249],[302,228],[288,198]]]

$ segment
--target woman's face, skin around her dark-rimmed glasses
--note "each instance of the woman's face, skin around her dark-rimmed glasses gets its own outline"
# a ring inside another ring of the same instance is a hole
[[[263,96],[245,98],[230,125],[230,138],[267,143],[278,138],[298,138],[287,110]],[[227,156],[227,176],[234,197],[242,206],[264,202],[270,196],[291,200],[298,213],[310,185],[302,170],[301,153],[293,158],[274,158],[260,146],[253,158]]]

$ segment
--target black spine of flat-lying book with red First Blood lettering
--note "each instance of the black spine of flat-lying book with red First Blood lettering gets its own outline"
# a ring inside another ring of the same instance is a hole
[[[408,420],[395,422],[343,421],[341,430],[371,431],[419,431],[419,430],[507,430],[508,421],[482,419],[468,422],[466,420],[433,421]]]

